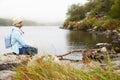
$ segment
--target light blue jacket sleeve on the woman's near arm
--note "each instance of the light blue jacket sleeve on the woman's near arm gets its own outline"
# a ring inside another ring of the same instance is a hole
[[[23,36],[20,34],[20,32],[15,31],[13,34],[16,41],[18,41],[23,47],[30,47],[31,45],[28,44],[24,39]]]

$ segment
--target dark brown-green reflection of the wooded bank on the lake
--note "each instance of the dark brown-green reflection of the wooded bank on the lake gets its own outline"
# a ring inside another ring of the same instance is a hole
[[[70,49],[91,48],[96,43],[110,43],[112,39],[105,35],[96,35],[82,31],[70,31],[67,34],[67,44]]]

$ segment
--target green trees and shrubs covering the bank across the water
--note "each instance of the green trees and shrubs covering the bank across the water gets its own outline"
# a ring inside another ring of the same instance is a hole
[[[63,28],[96,31],[120,29],[120,0],[89,0],[85,5],[73,4],[67,12]]]

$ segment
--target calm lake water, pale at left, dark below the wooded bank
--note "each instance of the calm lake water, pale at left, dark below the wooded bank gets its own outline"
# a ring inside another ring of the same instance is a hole
[[[4,37],[10,29],[10,27],[0,27],[0,54],[11,52],[11,49],[5,49],[4,46]],[[69,31],[59,29],[58,26],[24,26],[22,30],[25,40],[38,46],[39,54],[63,54],[73,49],[93,47],[98,42],[111,41],[104,35]]]

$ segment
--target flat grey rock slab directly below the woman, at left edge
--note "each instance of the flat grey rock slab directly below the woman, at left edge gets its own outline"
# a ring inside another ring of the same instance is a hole
[[[1,55],[0,70],[10,70],[29,59],[27,55]]]

